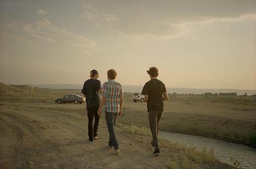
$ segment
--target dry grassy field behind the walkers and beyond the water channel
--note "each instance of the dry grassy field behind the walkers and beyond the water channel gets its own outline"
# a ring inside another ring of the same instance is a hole
[[[0,102],[53,103],[66,94],[80,94],[76,89],[37,89],[33,92],[2,92]],[[197,136],[212,137],[256,147],[255,96],[169,95],[160,129]],[[146,103],[132,102],[125,93],[123,117],[125,125],[148,127]]]

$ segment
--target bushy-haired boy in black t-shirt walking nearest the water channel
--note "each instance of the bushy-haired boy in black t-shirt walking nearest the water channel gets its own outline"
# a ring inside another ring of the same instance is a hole
[[[168,94],[166,92],[165,84],[158,80],[157,67],[150,67],[147,71],[151,80],[149,80],[143,87],[141,94],[145,95],[145,101],[147,102],[149,128],[151,129],[152,141],[151,145],[155,147],[154,155],[160,154],[160,147],[158,142],[158,130],[159,122],[163,112],[163,101],[168,100]],[[162,96],[163,95],[163,96]]]

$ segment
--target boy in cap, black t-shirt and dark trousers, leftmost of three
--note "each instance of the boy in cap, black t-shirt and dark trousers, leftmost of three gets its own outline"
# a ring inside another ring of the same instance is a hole
[[[99,72],[93,69],[90,72],[90,79],[85,81],[84,87],[82,89],[82,94],[86,98],[86,108],[88,116],[88,137],[91,142],[94,139],[98,139],[98,127],[99,119],[101,116],[98,115],[99,103],[101,102],[99,98],[99,93],[102,93],[101,81],[98,80]],[[94,119],[94,125],[93,125]]]

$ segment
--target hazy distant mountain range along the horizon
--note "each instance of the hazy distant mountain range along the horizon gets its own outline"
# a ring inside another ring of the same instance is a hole
[[[38,88],[50,88],[50,89],[82,89],[82,84],[29,84],[32,87]],[[123,85],[124,92],[141,92],[143,86],[140,85]],[[256,90],[248,89],[193,89],[193,88],[166,88],[169,93],[176,92],[177,94],[204,94],[205,92],[211,92],[213,94],[220,92],[236,92],[238,95],[243,95],[247,92],[247,95],[256,94]]]

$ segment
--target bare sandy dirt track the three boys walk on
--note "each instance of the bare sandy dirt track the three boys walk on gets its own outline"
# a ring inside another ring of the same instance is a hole
[[[63,107],[69,111],[61,111]],[[1,103],[0,168],[166,168],[177,153],[162,147],[161,156],[153,157],[150,137],[127,134],[119,125],[121,154],[114,155],[107,147],[104,119],[102,116],[100,138],[91,143],[84,105]],[[205,168],[229,166],[217,162]]]

